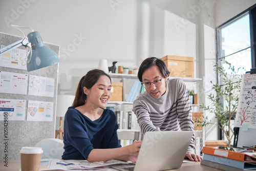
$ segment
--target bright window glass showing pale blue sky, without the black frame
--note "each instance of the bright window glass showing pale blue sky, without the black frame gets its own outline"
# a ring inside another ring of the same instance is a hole
[[[235,68],[241,67],[245,73],[251,69],[251,45],[249,14],[246,13],[230,24],[219,28],[219,57],[218,63],[225,68],[228,61]]]

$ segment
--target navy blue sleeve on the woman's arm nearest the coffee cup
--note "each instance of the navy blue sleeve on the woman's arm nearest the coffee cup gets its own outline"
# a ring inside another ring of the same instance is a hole
[[[86,125],[82,123],[79,115],[69,112],[69,110],[66,113],[65,121],[66,140],[82,154],[84,159],[87,159],[93,149],[93,144],[88,137]]]

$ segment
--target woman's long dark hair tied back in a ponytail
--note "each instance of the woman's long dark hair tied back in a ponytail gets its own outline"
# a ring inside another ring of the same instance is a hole
[[[98,81],[98,79],[102,75],[108,76],[110,78],[110,76],[108,74],[106,74],[104,71],[94,69],[94,70],[89,71],[86,75],[84,75],[80,79],[78,86],[77,86],[75,99],[72,104],[72,106],[74,108],[86,103],[87,95],[84,94],[83,88],[86,87],[87,89],[91,89],[93,87],[93,85]],[[111,82],[111,78],[110,78],[110,82]]]

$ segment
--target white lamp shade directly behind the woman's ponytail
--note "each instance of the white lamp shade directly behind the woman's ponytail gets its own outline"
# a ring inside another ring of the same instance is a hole
[[[75,96],[73,95],[57,95],[56,116],[64,117],[68,108],[72,105]]]

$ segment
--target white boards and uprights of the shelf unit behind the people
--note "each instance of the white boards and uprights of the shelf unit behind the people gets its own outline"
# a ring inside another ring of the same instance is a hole
[[[125,100],[125,92],[126,92],[126,85],[125,85],[125,81],[126,79],[138,79],[137,75],[135,74],[113,74],[113,73],[109,73],[109,76],[111,78],[120,78],[122,79],[121,81],[123,82],[123,100]],[[183,77],[168,77],[168,79],[176,79],[176,78],[180,78],[182,79],[184,82],[191,82],[191,83],[198,83],[200,81],[203,81],[202,78],[183,78]],[[126,102],[126,101],[109,101],[108,104],[113,104],[113,105],[132,105],[133,102]],[[200,106],[200,104],[192,104],[192,107],[198,108]],[[200,135],[200,137],[203,139],[203,144],[205,141],[205,131],[204,128],[203,130],[195,130],[195,135],[198,136]],[[120,139],[125,139],[125,137],[137,137],[140,138],[141,137],[141,133],[140,130],[118,130],[118,137]]]

